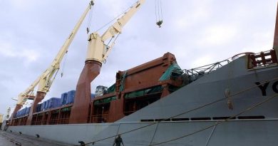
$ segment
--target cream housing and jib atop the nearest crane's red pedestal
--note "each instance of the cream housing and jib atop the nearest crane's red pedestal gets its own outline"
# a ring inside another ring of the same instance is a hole
[[[126,11],[123,16],[118,19],[115,24],[110,26],[107,31],[103,33],[102,36],[99,36],[97,32],[91,33],[88,36],[88,51],[86,56],[86,61],[98,61],[105,62],[108,54],[115,44],[115,40],[110,45],[106,45],[105,41],[112,39],[118,34],[121,33],[123,26],[131,19],[131,17],[140,9],[140,6],[145,2],[145,0],[137,1],[133,6]]]

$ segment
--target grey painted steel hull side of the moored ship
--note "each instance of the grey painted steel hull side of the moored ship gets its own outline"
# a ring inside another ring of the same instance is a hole
[[[277,66],[248,71],[246,58],[243,56],[117,122],[11,126],[8,130],[22,132],[26,135],[35,136],[38,134],[50,140],[75,145],[78,145],[80,140],[87,143],[111,136],[106,140],[96,142],[94,145],[113,145],[113,135],[153,124],[123,134],[124,144],[153,145],[184,136],[160,145],[277,145],[278,97],[237,115],[254,104],[276,95],[278,93],[278,80],[273,79],[277,76]],[[260,88],[256,86],[256,82],[263,83],[266,80],[269,83],[261,85]],[[247,90],[250,87],[254,88]],[[230,90],[230,95],[242,91],[242,93],[230,97],[232,109],[228,108],[227,99],[225,99],[190,113],[179,115],[225,98],[225,90]],[[179,116],[169,121],[141,122],[142,120],[161,120],[175,115]],[[234,115],[237,115],[235,119],[226,122],[215,120]],[[221,123],[215,125],[217,122]],[[208,126],[210,127],[204,130]],[[197,132],[199,130],[202,131]]]

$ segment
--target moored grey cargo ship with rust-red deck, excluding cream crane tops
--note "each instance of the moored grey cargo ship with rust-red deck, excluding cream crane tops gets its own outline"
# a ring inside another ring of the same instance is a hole
[[[73,145],[113,145],[118,135],[138,146],[277,145],[277,53],[278,19],[269,51],[188,70],[165,53],[118,71],[113,85],[100,85],[94,94],[90,83],[102,61],[89,56],[76,90],[41,104],[45,93],[38,92],[6,130]]]

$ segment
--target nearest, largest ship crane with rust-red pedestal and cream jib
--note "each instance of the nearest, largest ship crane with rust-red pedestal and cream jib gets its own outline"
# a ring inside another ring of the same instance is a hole
[[[100,73],[101,66],[108,58],[108,54],[113,48],[118,35],[122,32],[123,26],[128,23],[144,2],[145,0],[137,1],[123,14],[123,16],[115,21],[115,23],[110,26],[103,35],[94,32],[88,36],[89,42],[85,66],[78,79],[76,85],[76,97],[73,107],[71,108],[71,116],[69,120],[71,124],[87,122],[88,108],[91,104],[91,82]],[[105,43],[106,41],[108,41],[108,43]]]

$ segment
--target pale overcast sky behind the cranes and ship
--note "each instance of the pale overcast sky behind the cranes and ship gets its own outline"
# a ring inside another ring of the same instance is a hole
[[[101,75],[110,86],[115,73],[170,52],[183,69],[222,61],[237,53],[272,48],[277,0],[161,0],[163,25],[155,24],[155,1],[145,4],[123,28]],[[0,0],[0,113],[50,65],[89,1]],[[122,13],[134,0],[96,0],[91,31]],[[83,21],[46,99],[76,88],[87,50]],[[102,29],[100,33],[105,30]]]

